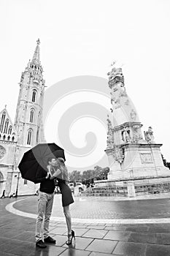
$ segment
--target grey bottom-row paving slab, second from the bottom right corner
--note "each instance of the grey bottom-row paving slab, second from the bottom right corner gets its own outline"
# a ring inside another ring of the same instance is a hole
[[[128,242],[119,241],[113,251],[113,254],[123,255],[123,256],[145,256],[144,255],[145,249],[146,249],[146,244],[128,243]],[[146,256],[149,256],[149,255],[146,255]],[[161,256],[164,256],[164,255],[161,255]]]

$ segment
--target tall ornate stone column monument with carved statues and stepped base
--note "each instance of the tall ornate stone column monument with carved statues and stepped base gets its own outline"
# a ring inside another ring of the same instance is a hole
[[[169,191],[170,170],[163,165],[162,144],[155,143],[152,127],[143,137],[138,113],[125,90],[122,68],[113,66],[107,75],[112,103],[112,118],[107,116],[105,150],[109,173],[107,181],[95,182],[96,189],[109,187],[109,194],[116,191],[128,196],[134,196],[135,192],[142,195]]]

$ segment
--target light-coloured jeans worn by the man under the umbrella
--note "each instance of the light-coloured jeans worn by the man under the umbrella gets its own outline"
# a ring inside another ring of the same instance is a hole
[[[49,236],[49,223],[50,216],[53,208],[53,194],[47,194],[45,192],[39,191],[39,203],[38,203],[38,216],[36,219],[36,242],[43,239],[42,238],[42,223],[44,222],[44,239]]]

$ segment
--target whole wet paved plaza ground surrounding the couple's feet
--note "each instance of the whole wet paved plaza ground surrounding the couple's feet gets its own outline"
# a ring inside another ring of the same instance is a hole
[[[34,241],[38,197],[0,199],[0,255],[168,256],[169,198],[115,201],[112,198],[77,197],[71,206],[76,240],[67,246],[61,195],[55,195],[50,235],[57,243],[47,244],[45,249],[37,248]],[[146,223],[146,219],[152,222],[152,218],[157,220],[154,224]],[[119,223],[115,219],[119,219]],[[143,221],[135,224],[133,219]],[[128,220],[131,224],[124,223]]]

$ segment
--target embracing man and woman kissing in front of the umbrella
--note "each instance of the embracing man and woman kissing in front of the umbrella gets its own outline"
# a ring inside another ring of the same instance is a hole
[[[50,157],[47,159],[47,176],[39,178],[36,183],[40,183],[39,187],[39,203],[38,216],[36,219],[36,246],[45,248],[45,243],[55,244],[55,239],[49,236],[50,216],[53,208],[53,198],[55,190],[55,181],[58,181],[58,187],[61,191],[63,213],[66,217],[66,225],[68,229],[68,240],[66,244],[72,244],[74,231],[72,230],[72,219],[69,211],[69,205],[74,203],[72,191],[68,185],[68,171],[64,163],[64,159],[58,157]],[[42,225],[44,219],[44,228],[42,234]]]

